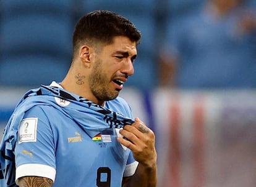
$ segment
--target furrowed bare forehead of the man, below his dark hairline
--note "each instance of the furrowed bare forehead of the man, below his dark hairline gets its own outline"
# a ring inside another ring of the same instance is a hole
[[[105,52],[123,51],[128,52],[130,55],[137,55],[136,42],[130,41],[130,39],[125,36],[114,37],[113,43],[103,47],[103,50],[105,50]]]

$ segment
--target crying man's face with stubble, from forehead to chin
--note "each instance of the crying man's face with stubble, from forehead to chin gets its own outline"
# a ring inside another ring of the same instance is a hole
[[[104,46],[96,54],[89,86],[98,100],[113,100],[117,97],[128,76],[134,74],[136,55],[136,43],[124,36],[115,37],[113,44]]]

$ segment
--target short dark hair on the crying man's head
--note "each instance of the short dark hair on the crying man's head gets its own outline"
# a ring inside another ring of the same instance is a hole
[[[95,10],[80,18],[75,26],[74,52],[81,42],[111,44],[115,36],[126,36],[139,44],[141,34],[127,18],[108,10]]]

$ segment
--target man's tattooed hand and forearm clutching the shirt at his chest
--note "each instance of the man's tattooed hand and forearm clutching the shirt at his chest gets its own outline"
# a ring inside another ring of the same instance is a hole
[[[126,125],[119,133],[125,138],[118,137],[122,145],[129,148],[134,159],[139,162],[135,175],[130,177],[124,186],[156,186],[156,149],[155,134],[139,118],[132,125]]]

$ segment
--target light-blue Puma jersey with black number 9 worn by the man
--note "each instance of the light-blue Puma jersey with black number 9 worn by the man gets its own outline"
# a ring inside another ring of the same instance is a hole
[[[54,97],[53,102],[61,109],[39,104],[22,117],[14,149],[17,185],[20,177],[38,176],[53,180],[53,186],[121,186],[122,177],[134,174],[138,162],[130,149],[116,140],[121,125],[102,127],[97,122],[100,117],[90,113],[78,113],[73,116],[80,117],[76,121],[70,117],[72,111],[62,111],[72,107],[72,101]],[[129,105],[120,97],[106,101],[102,109],[133,118]],[[110,119],[104,119],[109,124]]]

